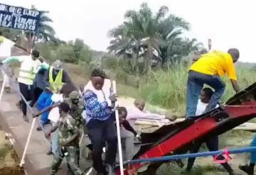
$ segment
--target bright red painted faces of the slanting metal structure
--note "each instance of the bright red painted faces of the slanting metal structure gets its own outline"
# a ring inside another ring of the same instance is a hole
[[[252,115],[256,116],[256,102],[240,103],[238,106],[224,106],[224,111],[228,113],[230,120],[252,118]],[[170,152],[174,152],[179,147],[198,139],[198,137],[203,137],[203,135],[215,130],[217,127],[218,121],[216,121],[213,116],[210,116],[210,114],[207,117],[199,118],[188,128],[177,132],[172,137],[164,140],[164,142],[161,142],[159,145],[156,145],[155,147],[152,147],[148,151],[144,152],[139,156],[139,159],[161,157],[169,154]],[[145,163],[129,164],[127,170],[124,171],[124,174],[133,175],[137,169],[144,165]]]

